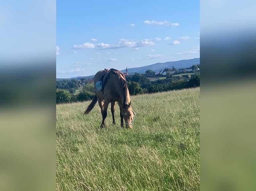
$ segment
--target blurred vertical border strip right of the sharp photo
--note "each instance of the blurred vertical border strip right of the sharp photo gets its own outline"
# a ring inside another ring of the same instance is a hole
[[[200,1],[201,190],[256,186],[255,5]]]

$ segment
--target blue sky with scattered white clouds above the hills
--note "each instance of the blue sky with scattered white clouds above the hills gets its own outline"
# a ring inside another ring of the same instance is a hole
[[[200,1],[56,1],[56,78],[200,58]]]

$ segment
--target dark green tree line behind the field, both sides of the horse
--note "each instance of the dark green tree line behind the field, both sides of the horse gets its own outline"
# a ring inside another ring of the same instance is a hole
[[[151,71],[150,71],[151,72]],[[130,95],[150,94],[170,90],[180,90],[185,88],[194,88],[200,86],[200,74],[191,77],[190,80],[180,77],[173,78],[172,75],[165,79],[150,81],[146,75],[135,73],[132,76],[126,76],[127,86]],[[56,103],[67,103],[76,101],[85,101],[92,99],[95,95],[94,84],[84,84],[79,88],[78,84],[86,83],[85,79],[81,80],[62,80],[56,82]],[[79,93],[76,90],[79,88]]]

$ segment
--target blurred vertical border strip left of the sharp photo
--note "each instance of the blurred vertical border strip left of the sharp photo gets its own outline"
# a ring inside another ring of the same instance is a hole
[[[56,2],[0,4],[0,190],[55,190]]]

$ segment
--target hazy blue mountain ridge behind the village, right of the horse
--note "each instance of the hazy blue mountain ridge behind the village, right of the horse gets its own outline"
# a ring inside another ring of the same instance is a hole
[[[181,69],[181,68],[188,68],[190,66],[193,66],[194,64],[200,64],[200,58],[172,61],[172,62],[165,62],[165,63],[156,63],[156,64],[142,66],[138,68],[128,68],[128,74],[133,74],[135,72],[140,74],[141,73],[145,74],[146,70],[153,70],[158,73],[161,70],[164,70],[165,68],[172,68],[172,66],[174,66],[174,68],[176,69]],[[125,70],[121,70],[121,72],[125,73]]]

